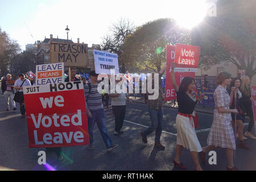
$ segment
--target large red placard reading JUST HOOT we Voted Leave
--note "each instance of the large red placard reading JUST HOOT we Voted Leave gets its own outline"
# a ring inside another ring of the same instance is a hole
[[[81,81],[24,86],[29,148],[89,144]]]

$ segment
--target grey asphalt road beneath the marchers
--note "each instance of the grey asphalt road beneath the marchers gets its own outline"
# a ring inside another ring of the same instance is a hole
[[[64,162],[58,166],[58,170],[108,170],[108,171],[142,171],[142,170],[179,170],[174,167],[172,160],[175,155],[176,129],[175,117],[177,110],[164,108],[164,133],[162,143],[166,150],[157,150],[154,145],[154,134],[148,137],[148,144],[142,143],[139,132],[150,125],[150,118],[146,105],[127,105],[127,113],[123,129],[125,133],[115,137],[114,119],[112,110],[106,110],[106,123],[109,135],[113,143],[119,144],[113,152],[106,152],[105,144],[98,132],[94,131],[96,150],[89,151],[86,146],[63,148]],[[213,115],[199,113],[200,129],[197,136],[201,146],[206,145],[208,130]],[[245,127],[246,129],[247,127]],[[248,140],[251,151],[237,148],[235,163],[241,170],[256,170],[256,141]],[[38,152],[44,148],[28,148],[28,135],[26,119],[20,119],[19,111],[7,112],[3,104],[3,96],[0,96],[0,169],[16,170],[46,170],[45,166],[38,164]],[[217,165],[205,164],[205,170],[225,170],[225,150],[221,148],[217,152]],[[208,157],[209,158],[209,157]],[[181,154],[181,162],[188,170],[195,169],[188,150]],[[48,154],[47,163],[53,166],[56,163],[56,155]]]

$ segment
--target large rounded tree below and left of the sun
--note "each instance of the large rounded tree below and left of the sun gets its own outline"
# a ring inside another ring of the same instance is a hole
[[[187,30],[179,28],[172,19],[158,19],[137,27],[127,36],[121,59],[130,71],[159,72],[166,63],[166,46],[190,44]]]

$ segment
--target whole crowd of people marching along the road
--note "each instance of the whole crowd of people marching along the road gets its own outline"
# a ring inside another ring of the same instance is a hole
[[[195,90],[195,79],[191,77],[185,77],[181,82],[180,86],[176,84],[174,68],[175,63],[172,64],[171,82],[177,94],[178,111],[176,117],[177,127],[177,144],[176,144],[176,155],[173,160],[175,166],[181,169],[187,169],[183,163],[180,162],[180,155],[183,148],[187,148],[196,165],[196,170],[201,171],[199,160],[204,164],[205,155],[208,151],[214,150],[214,148],[221,147],[226,150],[226,158],[228,165],[226,169],[228,171],[238,170],[233,162],[234,150],[236,150],[236,138],[240,141],[238,146],[249,150],[250,147],[246,144],[247,138],[256,139],[251,133],[254,126],[252,102],[250,89],[250,78],[244,76],[242,78],[231,78],[231,75],[227,72],[221,72],[217,76],[217,88],[214,91],[214,102],[216,108],[214,110],[214,119],[212,127],[210,129],[207,144],[208,146],[201,147],[201,144],[197,138],[195,131],[195,124],[198,122],[198,115],[195,112],[195,106],[197,102],[204,99],[204,95],[196,97]],[[163,68],[159,72],[159,79],[163,73],[167,70],[167,67]],[[152,73],[154,75],[154,73]],[[71,81],[80,81],[76,76],[76,69],[71,69]],[[86,113],[88,117],[88,133],[89,133],[89,150],[94,150],[93,145],[93,129],[97,123],[98,129],[100,130],[102,139],[106,144],[108,151],[114,150],[118,147],[118,144],[113,144],[112,139],[109,137],[106,129],[106,118],[104,112],[104,105],[102,102],[102,94],[98,92],[98,74],[95,71],[90,72],[90,83],[86,83],[84,78],[81,78],[84,82],[84,93],[86,101]],[[119,80],[122,81],[122,80]],[[119,81],[116,81],[118,84]],[[65,79],[65,82],[69,82],[69,77]],[[159,81],[159,84],[161,81]],[[33,84],[33,83],[32,83]],[[15,106],[15,95],[19,92],[20,96],[23,96],[23,86],[30,86],[31,81],[27,80],[23,74],[20,74],[19,79],[14,81],[11,79],[11,75],[7,75],[2,80],[2,93],[5,97],[6,110],[16,110]],[[123,84],[122,86],[127,87]],[[160,142],[162,130],[163,130],[163,91],[159,86],[159,96],[156,100],[149,100],[148,96],[150,93],[144,94],[148,112],[150,114],[151,126],[146,130],[141,131],[142,141],[147,143],[147,136],[155,131],[155,145],[154,147],[164,150],[165,147]],[[133,104],[129,98],[129,94],[126,93],[115,93],[108,94],[108,97],[112,98],[112,110],[115,119],[115,130],[114,135],[122,134],[123,121],[126,113],[126,100]],[[108,102],[108,100],[106,101]],[[22,118],[25,117],[25,105],[24,99],[19,101],[20,113]],[[108,105],[107,105],[108,106]],[[250,118],[249,127],[245,134],[243,134],[243,122],[245,122],[245,116]],[[236,122],[235,122],[236,121]],[[238,126],[238,132],[235,128],[235,123]],[[61,148],[47,148],[47,150],[55,151],[61,159]]]

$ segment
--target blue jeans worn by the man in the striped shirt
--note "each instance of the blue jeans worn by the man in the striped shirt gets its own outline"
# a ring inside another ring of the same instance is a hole
[[[106,144],[107,148],[113,146],[112,140],[109,138],[108,131],[106,129],[106,119],[105,112],[103,109],[90,111],[92,113],[92,118],[88,117],[88,132],[89,132],[89,140],[90,145],[93,144],[93,128],[95,123],[98,125],[98,129],[100,130],[101,136]]]

